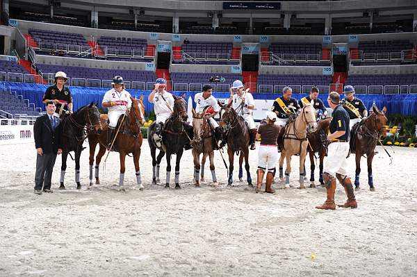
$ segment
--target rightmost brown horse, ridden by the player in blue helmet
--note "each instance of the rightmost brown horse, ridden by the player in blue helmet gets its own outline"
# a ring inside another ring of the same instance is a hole
[[[372,161],[375,155],[375,147],[381,137],[386,137],[386,107],[382,110],[374,105],[373,112],[366,119],[354,124],[352,127],[352,139],[350,140],[350,152],[355,153],[356,171],[354,176],[355,190],[359,190],[359,174],[361,174],[361,156],[366,154],[368,163],[368,185],[371,192],[375,192],[372,175]]]

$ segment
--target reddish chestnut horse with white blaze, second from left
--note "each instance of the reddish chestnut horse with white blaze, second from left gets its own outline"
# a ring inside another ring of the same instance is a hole
[[[140,133],[140,127],[144,124],[144,112],[145,106],[142,103],[143,96],[140,99],[133,99],[131,97],[132,106],[130,110],[127,110],[126,113],[120,117],[117,124],[119,128],[119,133],[114,139],[114,146],[119,151],[120,156],[120,178],[119,178],[119,187],[123,189],[124,183],[124,171],[125,171],[125,158],[129,153],[133,153],[133,163],[135,164],[136,170],[136,182],[139,185],[139,189],[143,190],[142,180],[140,178],[140,167],[139,167],[139,158],[140,158],[140,146],[142,146],[142,133]],[[88,135],[88,143],[90,144],[90,185],[92,185],[92,164],[94,162],[94,154],[97,143],[99,143],[99,153],[96,156],[95,163],[95,179],[96,184],[100,183],[99,180],[99,165],[101,158],[106,153],[107,146],[107,117],[104,116],[101,118],[101,124],[104,128],[101,134],[91,134]],[[114,147],[113,146],[113,147]]]

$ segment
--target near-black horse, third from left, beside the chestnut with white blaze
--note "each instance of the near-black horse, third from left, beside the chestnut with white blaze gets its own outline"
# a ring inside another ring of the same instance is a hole
[[[173,95],[174,96],[174,95]],[[152,131],[154,130],[154,124],[152,128],[149,128],[148,132],[148,144],[151,149],[152,156],[152,184],[156,184],[159,178],[159,168],[163,156],[166,153],[167,159],[167,171],[166,171],[166,182],[165,188],[170,188],[170,175],[171,175],[171,155],[177,154],[176,165],[175,165],[175,189],[181,189],[179,185],[179,163],[181,156],[184,151],[184,145],[191,141],[184,122],[187,120],[187,109],[186,101],[182,97],[174,96],[174,108],[170,118],[165,121],[165,125],[162,131],[162,142],[165,149],[159,148],[159,154],[156,158],[156,149],[158,148],[152,138]]]

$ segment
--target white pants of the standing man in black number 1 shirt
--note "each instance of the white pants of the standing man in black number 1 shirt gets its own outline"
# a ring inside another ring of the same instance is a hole
[[[327,158],[325,158],[324,172],[332,176],[341,174],[347,176],[347,154],[349,153],[349,142],[332,142],[327,147]]]

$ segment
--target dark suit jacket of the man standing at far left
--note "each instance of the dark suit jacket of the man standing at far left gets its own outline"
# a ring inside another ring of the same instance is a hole
[[[58,146],[60,144],[60,137],[62,128],[60,128],[61,119],[54,117],[55,130],[52,129],[49,115],[42,115],[38,117],[33,126],[33,134],[35,137],[35,147],[42,147],[42,151],[45,154],[58,152]]]

